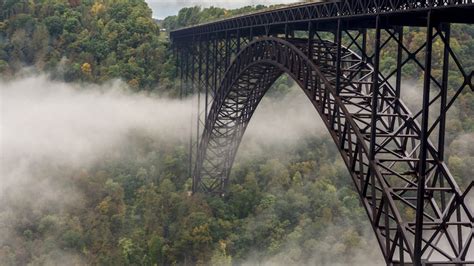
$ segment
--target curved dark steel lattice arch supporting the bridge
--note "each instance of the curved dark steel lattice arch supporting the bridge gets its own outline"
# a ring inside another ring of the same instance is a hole
[[[418,261],[414,243],[420,231],[423,261],[468,263],[474,219],[464,199],[472,183],[462,193],[428,142],[426,193],[417,197],[420,125],[370,64],[331,42],[308,45],[307,40],[264,37],[239,52],[206,120],[193,191],[225,193],[245,129],[266,91],[283,73],[303,89],[331,133],[387,264]],[[440,197],[449,199],[447,206],[440,206]],[[421,225],[409,215],[409,210],[417,211],[419,201],[424,206]]]

